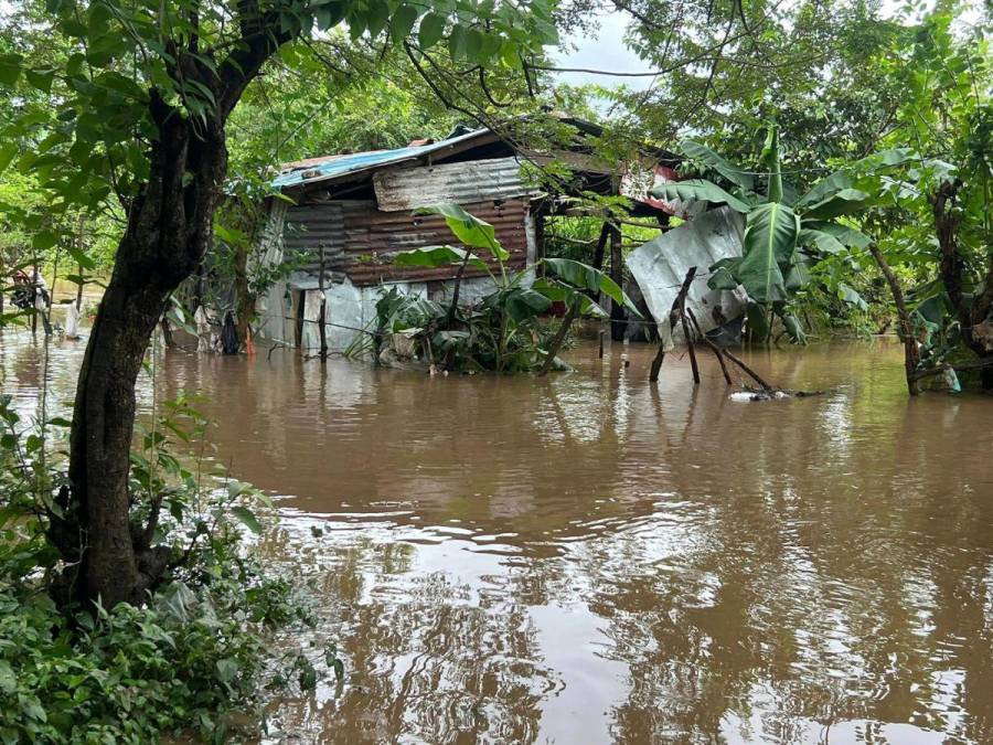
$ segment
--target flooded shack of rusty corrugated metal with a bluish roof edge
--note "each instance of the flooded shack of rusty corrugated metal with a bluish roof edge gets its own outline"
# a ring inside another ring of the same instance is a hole
[[[395,150],[285,164],[273,183],[287,199],[270,200],[256,255],[268,266],[287,262],[290,270],[258,299],[258,334],[289,347],[318,348],[323,298],[328,347],[343,351],[372,329],[376,301],[389,288],[437,301],[450,297],[457,267],[394,265],[398,252],[456,243],[444,217],[415,214],[417,207],[457,203],[492,224],[510,253],[505,266],[511,272],[525,272],[544,255],[548,221],[581,214],[575,200],[567,199],[568,190],[624,194],[632,200],[632,216],[654,219],[660,226],[668,225],[671,214],[680,214],[679,205],[648,196],[660,179],[676,178],[675,156],[653,151],[637,168],[598,162],[587,138],[600,135],[600,128],[569,117],[558,121],[575,135],[554,150],[530,150],[506,135],[476,129]],[[528,167],[552,160],[569,167],[568,189],[538,187],[528,178]],[[608,234],[606,227],[604,233]],[[611,276],[622,284],[620,231],[601,240],[596,254],[598,268],[609,265]],[[489,262],[495,270],[495,259]],[[471,304],[492,288],[485,270],[468,266],[460,299]],[[654,310],[658,302],[650,305]],[[612,312],[613,328],[623,334],[623,310]]]

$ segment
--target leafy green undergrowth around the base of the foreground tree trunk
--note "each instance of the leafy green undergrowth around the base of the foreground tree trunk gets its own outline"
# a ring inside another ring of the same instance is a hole
[[[168,453],[206,449],[185,404],[167,402],[132,454],[132,520],[147,523],[156,494],[168,508],[156,530],[171,552],[162,582],[140,607],[56,606],[66,564],[47,536],[63,440],[56,419],[25,427],[10,403],[0,396],[0,744],[257,739],[273,690],[342,675],[333,647],[293,647],[314,622],[310,596],[267,573],[247,540],[261,532],[249,505],[271,508],[268,498],[202,480],[201,461],[191,471]],[[274,645],[277,632],[290,641]]]

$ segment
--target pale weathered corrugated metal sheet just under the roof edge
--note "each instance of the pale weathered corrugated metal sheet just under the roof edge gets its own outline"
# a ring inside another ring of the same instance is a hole
[[[516,158],[394,168],[375,173],[373,185],[384,212],[508,200],[537,192],[521,180],[521,161]]]

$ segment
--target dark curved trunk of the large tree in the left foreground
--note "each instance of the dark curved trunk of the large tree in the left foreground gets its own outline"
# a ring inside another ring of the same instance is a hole
[[[53,539],[74,562],[63,602],[139,603],[168,563],[146,525],[132,524],[128,491],[135,383],[170,292],[199,265],[211,238],[227,168],[221,123],[194,132],[181,116],[157,117],[149,181],[129,211],[114,273],[90,332],[73,414],[71,490]],[[154,518],[153,518],[154,519]]]

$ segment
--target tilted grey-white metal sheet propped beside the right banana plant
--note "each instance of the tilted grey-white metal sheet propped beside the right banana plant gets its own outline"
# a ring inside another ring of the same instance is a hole
[[[704,331],[723,326],[745,311],[739,297],[707,287],[707,270],[722,258],[741,255],[741,215],[729,207],[711,210],[634,249],[627,263],[659,321],[663,339],[671,342],[669,311],[691,266],[697,278],[690,288],[686,307]],[[676,333],[676,336],[680,336]]]

